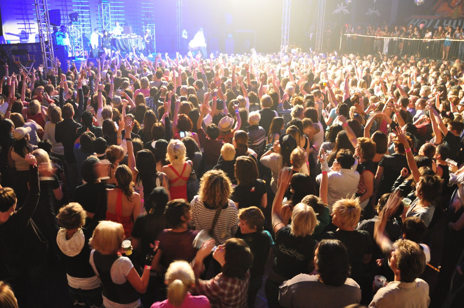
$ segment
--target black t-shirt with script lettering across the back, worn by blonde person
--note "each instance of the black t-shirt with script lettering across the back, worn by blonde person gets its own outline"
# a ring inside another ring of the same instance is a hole
[[[276,257],[272,270],[287,279],[298,274],[309,274],[309,263],[314,260],[316,240],[311,236],[295,237],[289,226],[276,232]]]

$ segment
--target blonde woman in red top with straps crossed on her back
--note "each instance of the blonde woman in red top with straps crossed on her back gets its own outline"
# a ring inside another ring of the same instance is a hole
[[[171,200],[187,200],[187,180],[192,173],[192,162],[185,158],[185,146],[180,140],[171,140],[168,144],[166,158],[170,164],[164,166],[161,172],[166,173],[169,180]]]

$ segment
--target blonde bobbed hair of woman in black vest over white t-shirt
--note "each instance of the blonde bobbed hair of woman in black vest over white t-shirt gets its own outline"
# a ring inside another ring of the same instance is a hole
[[[89,244],[103,255],[112,255],[121,247],[123,238],[124,228],[121,224],[103,220],[93,231]]]

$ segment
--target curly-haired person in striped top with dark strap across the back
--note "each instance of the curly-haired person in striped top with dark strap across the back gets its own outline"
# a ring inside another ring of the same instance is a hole
[[[203,174],[200,191],[190,202],[192,221],[189,225],[196,230],[209,231],[216,244],[224,244],[238,228],[238,210],[229,199],[231,194],[232,183],[224,171],[214,169]],[[216,215],[218,218],[214,219]]]

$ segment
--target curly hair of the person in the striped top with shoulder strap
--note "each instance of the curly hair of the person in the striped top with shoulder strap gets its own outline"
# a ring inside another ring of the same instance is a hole
[[[213,207],[225,205],[232,194],[232,182],[222,170],[209,170],[200,181],[198,194],[203,203]]]

